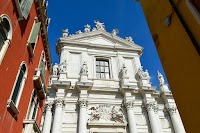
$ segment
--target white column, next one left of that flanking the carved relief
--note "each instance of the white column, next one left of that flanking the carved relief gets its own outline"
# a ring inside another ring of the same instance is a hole
[[[54,101],[55,104],[55,114],[53,120],[53,128],[52,133],[60,133],[61,126],[62,126],[62,107],[63,107],[63,100],[56,99]]]

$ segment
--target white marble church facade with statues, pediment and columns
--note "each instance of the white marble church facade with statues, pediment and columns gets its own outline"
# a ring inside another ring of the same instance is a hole
[[[184,133],[162,74],[157,91],[141,67],[143,48],[95,24],[58,40],[43,133]]]

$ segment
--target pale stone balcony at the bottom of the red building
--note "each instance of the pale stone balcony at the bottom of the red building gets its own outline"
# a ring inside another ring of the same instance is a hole
[[[24,133],[42,133],[35,120],[23,120]]]

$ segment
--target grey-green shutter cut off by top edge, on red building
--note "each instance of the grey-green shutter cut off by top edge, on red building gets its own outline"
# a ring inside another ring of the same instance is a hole
[[[27,19],[31,10],[33,0],[24,0],[21,4],[22,16]]]

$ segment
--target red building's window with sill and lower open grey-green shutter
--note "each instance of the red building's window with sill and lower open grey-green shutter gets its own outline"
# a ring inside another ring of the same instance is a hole
[[[29,35],[27,46],[28,46],[28,50],[29,50],[31,57],[34,57],[33,51],[35,49],[38,34],[39,34],[39,31],[40,31],[40,25],[41,25],[41,22],[38,22],[38,20],[35,20],[33,27],[32,27],[32,30],[31,30],[31,33]]]

